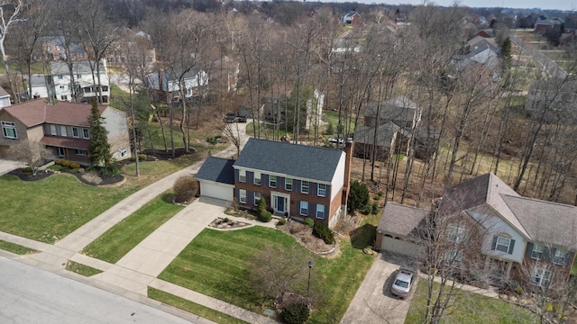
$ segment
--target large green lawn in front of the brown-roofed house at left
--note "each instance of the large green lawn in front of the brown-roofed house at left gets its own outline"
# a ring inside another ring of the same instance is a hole
[[[125,175],[126,183],[116,187],[83,184],[66,174],[31,182],[14,175],[0,176],[0,230],[53,244],[116,202],[185,165],[156,161],[141,166],[140,178]]]

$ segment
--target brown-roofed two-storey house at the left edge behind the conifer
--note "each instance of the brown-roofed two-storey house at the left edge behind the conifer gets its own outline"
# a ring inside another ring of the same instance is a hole
[[[49,148],[52,156],[48,159],[64,158],[89,164],[88,116],[91,107],[87,103],[50,104],[38,99],[0,110],[0,157],[11,158],[9,148],[28,139]],[[98,106],[98,111],[105,118],[103,125],[108,130],[113,158],[123,160],[131,157],[126,113],[107,106]]]

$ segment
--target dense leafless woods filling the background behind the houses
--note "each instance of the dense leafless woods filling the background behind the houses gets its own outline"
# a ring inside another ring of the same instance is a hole
[[[331,4],[317,4],[314,10],[310,4],[298,4],[299,11],[285,19],[279,14],[286,16],[292,11],[276,10],[283,5],[279,3],[251,4],[255,10],[250,12],[241,10],[248,5],[244,3],[203,11],[195,10],[194,5],[160,8],[154,2],[3,3],[5,22],[10,22],[6,19],[10,15],[16,18],[4,27],[5,41],[0,39],[0,49],[6,49],[3,58],[9,58],[11,67],[17,69],[17,73],[7,69],[16,76],[10,80],[31,79],[32,65],[43,58],[41,45],[46,36],[60,36],[67,50],[83,43],[88,58],[96,62],[114,51],[124,58],[122,68],[130,76],[135,95],[127,106],[134,105],[146,124],[151,103],[159,108],[165,103],[152,91],[137,92],[138,80],[159,70],[178,71],[184,92],[186,73],[206,71],[210,81],[195,89],[197,100],[167,106],[168,125],[178,125],[183,133],[179,141],[187,150],[191,129],[239,107],[257,121],[255,137],[280,139],[285,131],[292,131],[295,141],[323,145],[325,125],[319,121],[310,129],[302,126],[307,118],[302,110],[311,89],[325,94],[325,108],[338,113],[333,136],[339,139],[351,137],[363,124],[368,103],[404,95],[422,108],[421,121],[408,133],[436,133],[439,139],[438,145],[426,140],[433,152],[429,158],[415,157],[414,149],[393,148],[389,157],[373,154],[365,160],[362,180],[386,184],[389,199],[430,202],[441,194],[426,189],[432,184],[454,183],[490,170],[524,195],[572,202],[574,194],[567,193],[575,190],[577,149],[572,140],[574,95],[568,93],[574,87],[575,51],[567,50],[563,67],[568,74],[563,77],[550,75],[510,44],[506,48],[510,47],[511,55],[501,56],[499,67],[487,62],[456,68],[452,58],[470,34],[463,24],[467,8],[417,6],[408,15],[410,24],[401,27],[392,23],[398,13],[377,5],[364,8],[361,24],[343,26],[340,14],[344,13]],[[112,10],[119,5],[124,5],[122,14]],[[148,36],[137,37],[136,31]],[[501,43],[506,40],[499,36]],[[336,44],[341,50],[335,50]],[[154,66],[146,60],[145,53],[151,48],[156,49],[158,59]],[[62,60],[72,74],[71,56]],[[227,91],[226,62],[230,61],[239,68],[232,92]],[[97,72],[100,65],[93,68]],[[529,85],[529,94],[539,94],[527,103],[532,107],[531,116],[525,109]],[[272,130],[261,122],[267,97],[279,99],[275,109],[286,115]],[[152,113],[161,118],[158,109]],[[164,147],[174,152],[173,127],[168,131]],[[164,135],[164,130],[161,132]],[[408,136],[411,148],[417,139]],[[397,154],[406,157],[393,158]]]

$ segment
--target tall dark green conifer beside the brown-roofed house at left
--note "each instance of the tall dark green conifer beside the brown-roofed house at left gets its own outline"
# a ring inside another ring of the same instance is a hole
[[[90,125],[88,157],[93,165],[101,165],[104,163],[104,166],[108,166],[112,159],[110,143],[108,143],[108,131],[102,125],[104,120],[105,118],[98,112],[96,100],[93,100],[90,116],[88,116],[88,124]]]

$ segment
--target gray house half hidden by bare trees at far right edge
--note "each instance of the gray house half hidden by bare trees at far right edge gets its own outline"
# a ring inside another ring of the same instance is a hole
[[[561,78],[534,81],[527,92],[525,112],[545,122],[574,123],[577,82]],[[545,114],[544,114],[545,112]]]

